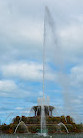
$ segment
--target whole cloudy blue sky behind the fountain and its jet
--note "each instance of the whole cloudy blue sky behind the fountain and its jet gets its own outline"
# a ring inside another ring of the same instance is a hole
[[[44,16],[45,97],[55,116],[83,122],[83,0],[0,0],[1,123],[42,97]]]

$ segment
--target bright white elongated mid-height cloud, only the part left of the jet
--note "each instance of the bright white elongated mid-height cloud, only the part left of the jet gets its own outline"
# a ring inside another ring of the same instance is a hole
[[[34,63],[15,63],[2,67],[4,76],[20,77],[25,80],[40,80],[42,77],[42,65]]]

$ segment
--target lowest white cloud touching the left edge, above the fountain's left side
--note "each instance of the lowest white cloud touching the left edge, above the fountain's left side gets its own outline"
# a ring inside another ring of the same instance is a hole
[[[30,97],[31,91],[19,87],[13,80],[0,80],[0,96],[3,97]]]

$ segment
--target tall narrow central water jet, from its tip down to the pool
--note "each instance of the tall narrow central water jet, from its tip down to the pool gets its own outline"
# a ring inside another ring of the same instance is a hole
[[[49,9],[48,7],[45,7],[45,14],[44,14],[44,35],[43,35],[43,97],[41,98],[41,134],[42,133],[46,133],[46,117],[45,117],[45,104],[47,103],[48,101],[48,98],[46,99],[45,98],[45,54],[46,54],[46,20],[48,19],[48,24],[51,27],[51,31],[52,31],[52,34],[53,34],[53,37],[55,36],[55,33],[54,33],[54,22],[53,22],[53,19],[51,17],[51,14],[49,12]],[[54,37],[54,42],[55,42],[55,37]],[[47,105],[49,107],[49,105]]]

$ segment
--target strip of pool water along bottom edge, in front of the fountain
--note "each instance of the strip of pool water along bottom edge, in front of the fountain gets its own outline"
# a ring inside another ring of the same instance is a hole
[[[44,138],[43,136],[38,136],[36,134],[1,134],[0,138]],[[53,134],[46,138],[83,138],[83,134]]]

